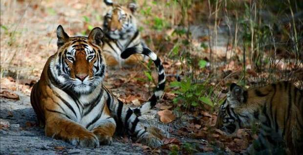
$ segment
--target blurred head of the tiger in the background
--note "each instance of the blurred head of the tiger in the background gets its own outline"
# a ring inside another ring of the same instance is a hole
[[[111,9],[104,17],[103,29],[111,39],[128,39],[137,31],[137,21],[133,13],[137,4],[131,2],[127,7],[114,4],[111,0],[105,0]]]

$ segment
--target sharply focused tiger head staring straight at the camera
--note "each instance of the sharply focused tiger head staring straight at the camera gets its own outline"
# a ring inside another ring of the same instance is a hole
[[[57,28],[58,51],[51,60],[49,78],[58,88],[75,94],[89,94],[105,77],[106,64],[101,55],[104,33],[95,27],[88,37],[69,37]]]

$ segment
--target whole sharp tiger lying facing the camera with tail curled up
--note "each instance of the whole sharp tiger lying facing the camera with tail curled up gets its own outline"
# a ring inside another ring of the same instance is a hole
[[[160,59],[149,49],[137,49],[150,57],[158,72],[153,95],[140,107],[130,108],[103,84],[107,65],[102,55],[104,33],[95,27],[88,37],[69,37],[57,28],[57,52],[48,58],[39,81],[31,91],[31,105],[45,135],[72,145],[95,148],[110,144],[112,136],[123,129],[144,145],[163,143],[152,135],[138,117],[149,112],[162,97],[165,73]],[[125,52],[128,58],[136,51]]]

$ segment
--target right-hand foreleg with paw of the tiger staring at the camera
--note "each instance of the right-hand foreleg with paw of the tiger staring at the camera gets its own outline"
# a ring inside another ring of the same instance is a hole
[[[104,107],[103,116],[101,116],[100,123],[98,126],[92,130],[98,139],[100,144],[107,145],[112,142],[112,136],[116,130],[116,122],[113,117],[109,116],[109,111],[107,106]]]

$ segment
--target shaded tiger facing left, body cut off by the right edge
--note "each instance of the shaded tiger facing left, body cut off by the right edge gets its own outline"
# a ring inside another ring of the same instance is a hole
[[[301,154],[303,90],[288,81],[248,90],[232,83],[219,108],[216,128],[231,134],[256,123],[260,123],[260,134],[246,154],[272,155],[281,150],[284,154]]]

